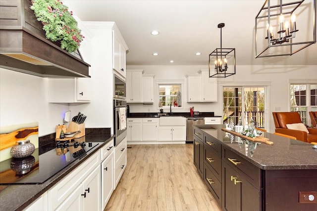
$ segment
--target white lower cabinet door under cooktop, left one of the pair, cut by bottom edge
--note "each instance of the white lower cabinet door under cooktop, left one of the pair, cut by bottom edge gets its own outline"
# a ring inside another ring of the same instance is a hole
[[[83,186],[79,185],[55,211],[83,211],[84,210]]]

